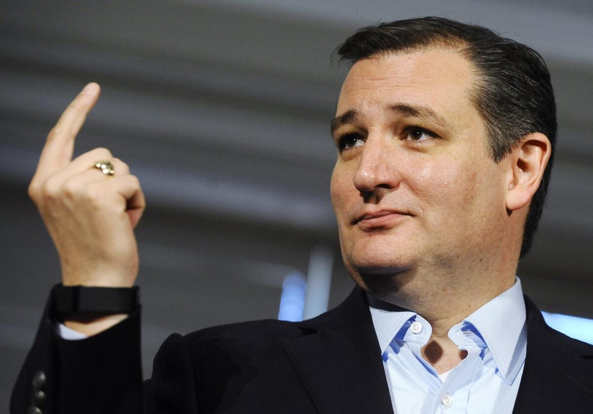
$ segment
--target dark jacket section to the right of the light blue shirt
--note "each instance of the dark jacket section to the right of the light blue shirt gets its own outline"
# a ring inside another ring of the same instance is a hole
[[[566,339],[527,307],[527,355],[514,414],[584,413],[593,408],[592,347]]]

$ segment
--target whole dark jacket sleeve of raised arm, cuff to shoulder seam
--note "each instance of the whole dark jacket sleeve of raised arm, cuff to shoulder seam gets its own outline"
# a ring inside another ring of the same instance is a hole
[[[63,339],[57,321],[50,295],[12,390],[12,414],[198,413],[195,372],[181,335],[165,340],[152,378],[142,382],[140,307],[86,339]]]

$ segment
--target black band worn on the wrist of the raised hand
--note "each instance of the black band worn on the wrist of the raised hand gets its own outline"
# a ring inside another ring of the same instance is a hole
[[[53,308],[61,317],[92,317],[132,313],[139,305],[139,287],[104,288],[55,285]]]

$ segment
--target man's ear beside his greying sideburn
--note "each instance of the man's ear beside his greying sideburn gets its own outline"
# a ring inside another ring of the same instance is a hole
[[[546,135],[533,132],[525,135],[508,155],[511,170],[506,189],[507,209],[515,211],[529,205],[544,176],[551,148]]]

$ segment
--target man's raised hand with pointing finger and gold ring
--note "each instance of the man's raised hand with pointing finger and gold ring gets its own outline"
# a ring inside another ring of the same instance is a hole
[[[145,208],[138,179],[106,148],[72,160],[76,134],[100,94],[88,84],[47,135],[28,192],[58,250],[64,285],[132,286],[138,274],[133,228]],[[115,174],[94,165],[110,161]]]

